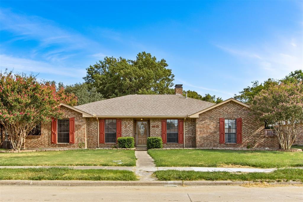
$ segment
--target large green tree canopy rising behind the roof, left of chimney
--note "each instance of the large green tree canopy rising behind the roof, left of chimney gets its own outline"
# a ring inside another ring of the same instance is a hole
[[[104,98],[129,94],[170,94],[174,75],[165,59],[140,52],[135,60],[105,57],[89,66],[83,78]]]

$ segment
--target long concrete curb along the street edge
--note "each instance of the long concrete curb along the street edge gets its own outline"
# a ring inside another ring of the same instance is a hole
[[[214,186],[256,183],[253,181],[93,181],[93,180],[0,180],[0,186]],[[270,182],[268,184],[298,185],[303,182]]]

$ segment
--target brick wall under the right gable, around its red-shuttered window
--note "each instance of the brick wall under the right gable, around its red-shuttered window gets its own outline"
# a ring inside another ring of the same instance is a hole
[[[219,143],[219,118],[242,118],[242,143]],[[257,123],[249,115],[249,109],[235,102],[228,102],[199,115],[196,120],[197,147],[240,147],[246,148],[253,144],[254,148],[279,148],[277,137],[264,135],[264,124]]]

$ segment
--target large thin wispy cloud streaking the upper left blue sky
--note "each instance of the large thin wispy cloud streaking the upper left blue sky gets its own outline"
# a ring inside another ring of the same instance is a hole
[[[45,62],[62,62],[71,56],[83,55],[83,52],[93,52],[101,47],[98,42],[75,30],[62,28],[55,22],[38,16],[16,14],[1,8],[0,18],[0,30],[14,36],[2,43],[9,46],[16,40],[34,40],[38,45],[34,45],[29,52],[35,53],[39,60]]]

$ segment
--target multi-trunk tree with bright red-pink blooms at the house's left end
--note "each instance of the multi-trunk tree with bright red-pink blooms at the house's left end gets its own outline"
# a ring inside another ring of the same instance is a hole
[[[14,150],[20,150],[28,133],[39,123],[61,116],[59,104],[75,105],[77,98],[34,76],[0,72],[0,124]]]

